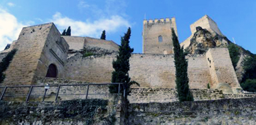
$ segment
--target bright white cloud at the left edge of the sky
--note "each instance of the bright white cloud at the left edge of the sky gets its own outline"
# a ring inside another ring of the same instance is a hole
[[[0,8],[0,51],[4,49],[7,44],[18,39],[21,29],[26,26],[19,23],[14,15]]]

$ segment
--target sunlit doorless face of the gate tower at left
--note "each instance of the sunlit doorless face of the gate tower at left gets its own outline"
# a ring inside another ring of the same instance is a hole
[[[53,23],[47,23],[23,28],[15,45],[18,52],[6,70],[6,78],[1,86],[32,83],[52,25]]]

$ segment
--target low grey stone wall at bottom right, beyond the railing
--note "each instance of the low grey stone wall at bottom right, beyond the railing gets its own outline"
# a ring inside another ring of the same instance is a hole
[[[256,124],[256,99],[129,105],[129,124]]]

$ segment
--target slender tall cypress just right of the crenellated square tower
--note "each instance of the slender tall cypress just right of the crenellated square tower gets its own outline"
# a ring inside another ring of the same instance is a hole
[[[187,74],[188,62],[184,55],[184,49],[181,48],[178,37],[172,28],[174,63],[176,67],[176,89],[178,100],[180,102],[193,101],[192,94],[189,92],[189,77]]]

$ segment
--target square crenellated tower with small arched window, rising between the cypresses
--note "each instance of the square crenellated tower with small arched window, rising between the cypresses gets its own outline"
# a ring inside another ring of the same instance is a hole
[[[173,41],[171,28],[177,33],[176,19],[156,19],[143,21],[143,53],[172,54]]]

